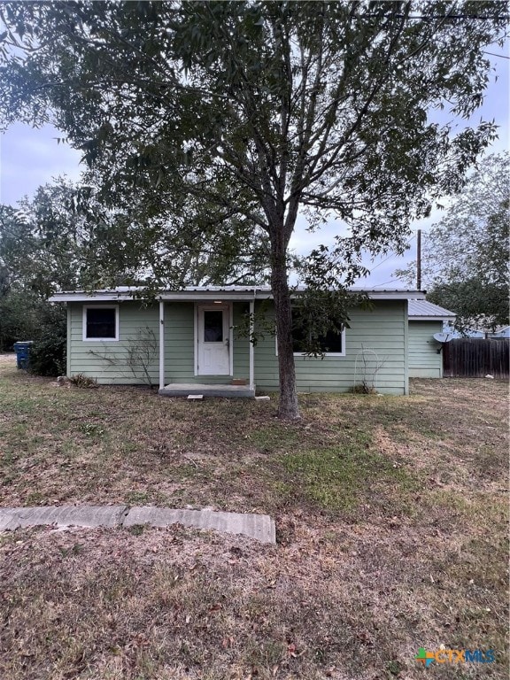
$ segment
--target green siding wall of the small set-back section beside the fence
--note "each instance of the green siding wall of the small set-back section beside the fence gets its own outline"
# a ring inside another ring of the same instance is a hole
[[[409,375],[412,378],[443,377],[443,355],[434,334],[443,330],[443,321],[409,321]]]

